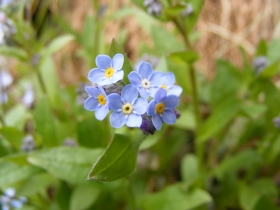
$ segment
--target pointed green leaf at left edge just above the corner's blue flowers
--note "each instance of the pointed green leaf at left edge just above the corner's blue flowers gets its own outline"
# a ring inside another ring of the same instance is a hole
[[[0,162],[0,188],[10,187],[12,184],[26,179],[39,171],[40,169],[35,166]]]

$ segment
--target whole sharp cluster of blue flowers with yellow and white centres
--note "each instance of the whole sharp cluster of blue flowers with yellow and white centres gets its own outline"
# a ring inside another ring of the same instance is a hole
[[[112,59],[98,55],[95,62],[97,68],[88,74],[94,86],[85,87],[89,97],[84,107],[95,111],[98,120],[103,120],[111,110],[112,127],[138,127],[145,134],[160,130],[163,122],[176,122],[179,115],[175,108],[182,88],[174,85],[173,73],[154,71],[149,63],[143,62],[137,71],[130,72],[128,80],[131,84],[126,85],[122,54],[116,54]]]

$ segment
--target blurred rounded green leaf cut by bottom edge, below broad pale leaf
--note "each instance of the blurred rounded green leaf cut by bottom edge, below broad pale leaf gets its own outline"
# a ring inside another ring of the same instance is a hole
[[[95,186],[87,184],[78,185],[74,188],[71,200],[70,210],[86,210],[97,200],[100,191]]]

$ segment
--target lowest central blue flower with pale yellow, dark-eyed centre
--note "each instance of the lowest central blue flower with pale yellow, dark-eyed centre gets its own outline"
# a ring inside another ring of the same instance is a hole
[[[141,115],[146,112],[148,102],[144,98],[138,98],[138,91],[134,86],[125,86],[121,95],[110,94],[108,103],[109,108],[114,111],[110,116],[112,127],[120,128],[124,124],[128,127],[141,126]]]

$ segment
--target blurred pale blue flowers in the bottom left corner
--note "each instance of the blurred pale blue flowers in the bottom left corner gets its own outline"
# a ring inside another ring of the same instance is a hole
[[[4,194],[0,196],[0,207],[3,210],[9,210],[10,207],[20,209],[26,203],[25,197],[16,198],[16,191],[13,188],[5,190]]]

